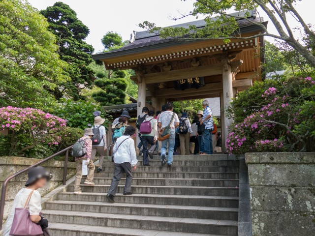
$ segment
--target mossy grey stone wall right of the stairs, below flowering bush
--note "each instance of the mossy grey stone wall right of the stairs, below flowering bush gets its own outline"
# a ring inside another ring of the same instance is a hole
[[[315,232],[315,152],[246,153],[253,236]]]

